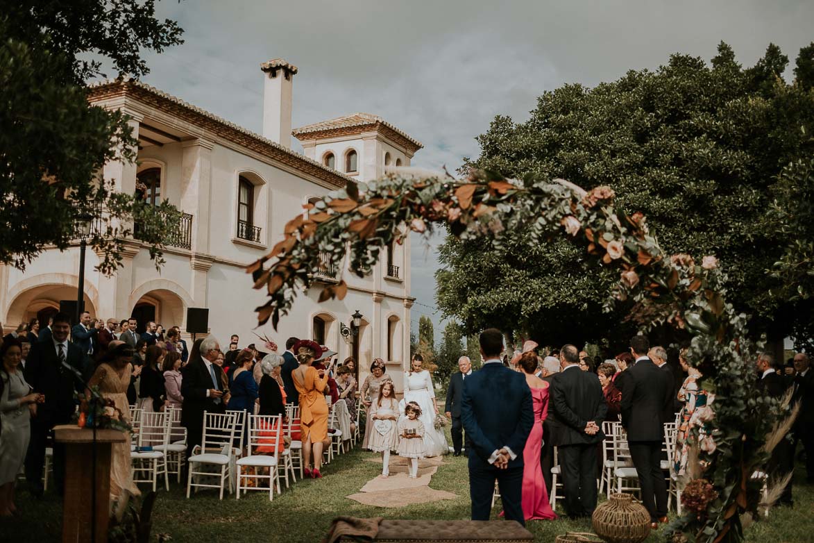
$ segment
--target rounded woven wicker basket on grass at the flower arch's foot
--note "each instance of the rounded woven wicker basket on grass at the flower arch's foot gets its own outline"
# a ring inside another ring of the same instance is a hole
[[[593,531],[607,543],[640,543],[650,535],[650,514],[630,494],[611,494],[591,520]]]

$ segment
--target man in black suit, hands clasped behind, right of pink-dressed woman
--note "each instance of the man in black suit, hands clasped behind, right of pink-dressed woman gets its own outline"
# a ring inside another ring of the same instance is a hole
[[[597,376],[580,371],[574,345],[562,346],[560,364],[550,401],[560,424],[553,444],[559,451],[565,510],[570,517],[589,517],[597,506],[597,443],[605,437],[607,405]]]

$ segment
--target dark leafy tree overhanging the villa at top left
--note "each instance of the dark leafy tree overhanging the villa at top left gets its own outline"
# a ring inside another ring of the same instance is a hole
[[[101,177],[108,160],[135,160],[138,142],[124,115],[87,102],[86,84],[103,63],[142,76],[143,51],[181,43],[181,33],[155,18],[154,0],[0,2],[0,263],[23,269],[46,245],[68,247],[89,213],[100,219],[90,245],[103,271],[116,269],[133,223],[161,262],[177,211]]]

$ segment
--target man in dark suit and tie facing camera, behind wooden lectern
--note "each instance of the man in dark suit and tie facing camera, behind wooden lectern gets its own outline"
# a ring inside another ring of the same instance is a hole
[[[46,440],[58,424],[71,422],[77,401],[74,392],[84,388],[78,375],[85,369],[85,353],[68,341],[71,317],[54,316],[52,336],[32,346],[25,364],[25,380],[45,401],[34,404],[31,419],[31,441],[25,456],[25,478],[35,496],[42,496],[42,466],[46,459]],[[65,475],[65,447],[54,444],[54,482],[62,493]]]

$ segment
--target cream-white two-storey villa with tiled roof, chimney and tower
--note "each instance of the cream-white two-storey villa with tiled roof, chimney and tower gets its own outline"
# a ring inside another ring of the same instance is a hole
[[[263,135],[253,134],[199,107],[138,81],[94,85],[90,102],[125,112],[138,135],[138,162],[106,164],[104,177],[133,194],[137,180],[151,203],[168,199],[182,212],[178,239],[164,250],[166,264],[155,269],[147,247],[126,242],[123,267],[107,278],[86,254],[85,308],[94,317],[135,316],[139,325],[155,320],[186,331],[186,309],[208,308],[209,333],[227,348],[231,334],[241,347],[268,335],[285,348],[291,335],[316,339],[344,357],[355,355],[361,378],[374,357],[392,364],[398,379],[409,359],[409,238],[386,251],[365,278],[326,262],[326,274],[303,292],[278,331],[255,330],[254,308],[265,291],[252,289],[245,266],[282,239],[283,226],[302,205],[349,182],[383,175],[385,167],[409,165],[422,144],[379,116],[356,113],[291,130],[292,83],[297,68],[282,59],[261,65],[264,77]],[[291,151],[291,135],[305,155]],[[347,265],[347,264],[346,264]],[[79,248],[46,250],[25,272],[0,267],[0,319],[11,331],[34,317],[46,325],[60,300],[77,299]],[[325,283],[348,282],[344,300],[317,303]],[[362,314],[356,334],[352,314]],[[184,334],[188,339],[189,335]],[[262,350],[262,348],[260,349]],[[399,379],[400,380],[400,379]]]

